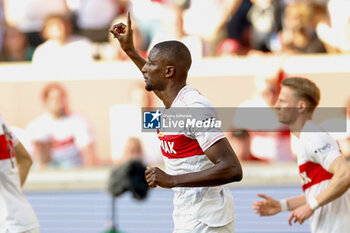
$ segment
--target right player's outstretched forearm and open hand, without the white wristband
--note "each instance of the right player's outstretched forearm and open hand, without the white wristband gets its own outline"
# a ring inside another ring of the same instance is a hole
[[[279,200],[262,193],[258,193],[257,195],[264,200],[253,202],[255,213],[260,216],[271,216],[282,211],[281,202]],[[286,199],[287,210],[294,210],[305,203],[306,199],[304,194]]]

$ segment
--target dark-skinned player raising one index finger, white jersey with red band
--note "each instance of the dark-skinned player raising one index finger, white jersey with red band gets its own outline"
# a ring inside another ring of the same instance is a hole
[[[127,25],[110,32],[144,75],[146,90],[163,101],[166,111],[176,107],[203,109],[202,120],[215,116],[209,101],[186,85],[191,54],[178,41],[156,44],[143,59],[133,45],[130,14]],[[173,188],[174,232],[231,233],[234,206],[231,193],[222,186],[242,179],[242,168],[224,135],[216,130],[191,129],[168,134],[159,132],[166,172],[157,167],[145,172],[150,187]]]

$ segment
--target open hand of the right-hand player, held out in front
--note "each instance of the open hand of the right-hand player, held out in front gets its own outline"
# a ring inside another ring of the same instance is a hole
[[[253,202],[255,213],[260,216],[271,216],[281,212],[281,204],[278,200],[261,193],[258,193],[257,195],[264,198],[264,200]]]

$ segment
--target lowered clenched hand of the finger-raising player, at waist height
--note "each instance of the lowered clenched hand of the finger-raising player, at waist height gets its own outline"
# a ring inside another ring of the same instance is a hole
[[[157,186],[163,188],[172,188],[172,176],[166,174],[164,171],[159,169],[158,167],[147,167],[145,171],[146,181],[148,186],[151,188],[155,188]]]

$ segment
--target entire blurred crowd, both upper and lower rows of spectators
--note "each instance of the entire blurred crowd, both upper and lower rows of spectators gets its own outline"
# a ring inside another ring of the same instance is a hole
[[[252,54],[350,53],[349,0],[0,0],[0,61],[33,64],[125,61],[128,57],[109,28],[126,23],[131,12],[134,44],[147,57],[163,40],[182,41],[193,60]],[[278,70],[257,77],[256,96],[239,107],[271,109],[286,76]],[[95,150],[93,130],[69,109],[67,93],[55,83],[44,88],[46,113],[33,119],[18,136],[39,169],[120,164],[140,159],[161,163],[157,140],[139,132],[142,107],[155,106],[154,96],[135,84],[128,105],[110,109],[111,158]],[[348,103],[350,109],[350,100]],[[120,125],[119,112],[135,128]],[[271,128],[252,128],[240,112],[227,137],[241,161],[293,161],[288,129],[273,110]],[[348,111],[348,122],[350,111]],[[348,123],[350,125],[350,123]],[[348,132],[350,130],[348,129]],[[16,132],[15,132],[16,133]],[[345,135],[345,134],[344,134]],[[350,135],[338,138],[350,157]],[[147,147],[145,147],[147,145]]]

